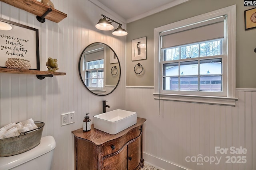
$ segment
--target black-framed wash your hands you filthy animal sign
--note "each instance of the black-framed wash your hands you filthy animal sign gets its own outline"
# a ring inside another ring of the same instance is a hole
[[[8,58],[25,59],[30,70],[40,70],[38,29],[0,18],[0,24],[11,26],[0,29],[0,67],[6,67]]]

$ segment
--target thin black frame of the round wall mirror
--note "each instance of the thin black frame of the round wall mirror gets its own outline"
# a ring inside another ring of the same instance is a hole
[[[118,60],[118,63],[119,63],[119,70],[120,70],[120,71],[119,71],[119,79],[118,79],[118,82],[117,82],[117,84],[116,84],[116,87],[115,87],[111,92],[109,92],[108,94],[102,94],[102,95],[96,94],[96,93],[92,92],[92,91],[85,85],[84,80],[83,80],[82,75],[81,75],[81,71],[80,71],[81,58],[82,58],[82,56],[83,56],[83,54],[84,54],[84,51],[85,51],[90,45],[96,44],[96,43],[100,43],[100,42],[91,43],[91,44],[87,45],[87,46],[84,48],[84,50],[82,51],[82,53],[81,53],[81,55],[80,55],[80,57],[79,57],[79,61],[78,61],[78,72],[79,72],[79,76],[80,76],[80,79],[81,79],[83,85],[84,85],[92,94],[95,94],[95,95],[97,95],[97,96],[106,96],[106,95],[111,94],[112,92],[114,92],[114,90],[116,90],[116,88],[117,88],[117,86],[118,86],[118,84],[119,84],[119,82],[120,82],[120,78],[121,78],[121,64],[120,64],[120,61],[119,61],[119,59],[118,59],[118,56],[116,55],[116,52],[115,52],[109,45],[107,45],[107,44],[105,44],[105,43],[100,43],[100,44],[106,45],[107,47],[109,47],[109,48],[114,52],[114,54],[116,55],[116,58],[117,58],[117,60]]]

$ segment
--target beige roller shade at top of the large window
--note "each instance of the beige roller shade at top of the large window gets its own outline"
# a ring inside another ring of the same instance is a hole
[[[224,37],[224,19],[208,20],[161,33],[162,49]]]

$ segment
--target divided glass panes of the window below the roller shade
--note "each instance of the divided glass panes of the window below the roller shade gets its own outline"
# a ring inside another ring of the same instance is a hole
[[[222,81],[218,86],[201,81],[222,80],[222,44],[218,39],[162,49],[163,90],[222,92]]]

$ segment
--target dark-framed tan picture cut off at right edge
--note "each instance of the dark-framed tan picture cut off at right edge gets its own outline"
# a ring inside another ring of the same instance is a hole
[[[245,30],[256,28],[256,8],[244,11]]]

